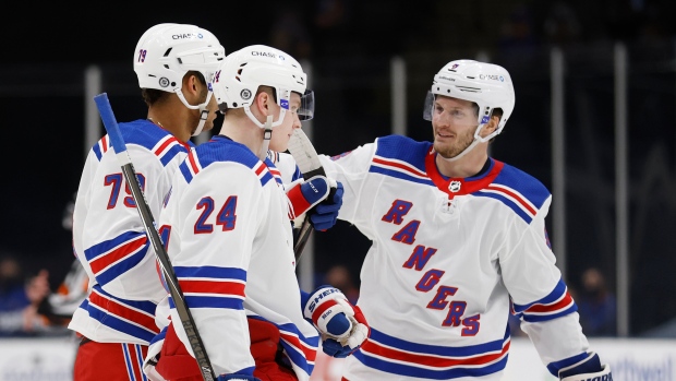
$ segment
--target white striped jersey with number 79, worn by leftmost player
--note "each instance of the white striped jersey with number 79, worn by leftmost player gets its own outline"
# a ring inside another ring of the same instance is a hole
[[[157,218],[179,163],[193,146],[147,120],[119,124],[146,201]],[[69,329],[99,343],[148,345],[155,308],[167,294],[155,253],[108,135],[92,147],[73,212],[73,249],[89,294]]]

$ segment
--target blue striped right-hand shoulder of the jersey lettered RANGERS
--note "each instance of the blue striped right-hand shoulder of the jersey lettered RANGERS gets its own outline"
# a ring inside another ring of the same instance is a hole
[[[493,182],[476,192],[475,195],[502,201],[530,224],[552,194],[533,176],[505,164]]]

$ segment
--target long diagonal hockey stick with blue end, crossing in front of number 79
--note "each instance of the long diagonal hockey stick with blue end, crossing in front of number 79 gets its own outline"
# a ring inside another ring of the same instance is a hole
[[[104,126],[106,127],[106,131],[110,138],[110,143],[112,144],[118,162],[120,162],[120,166],[122,167],[124,178],[126,179],[126,182],[132,191],[132,197],[136,203],[136,210],[141,215],[141,219],[143,221],[148,239],[155,250],[155,257],[165,272],[165,278],[169,285],[169,293],[171,294],[171,298],[173,298],[173,303],[176,305],[176,310],[179,313],[179,318],[181,318],[181,323],[183,324],[183,329],[188,335],[190,346],[195,354],[195,359],[197,360],[197,365],[202,371],[202,377],[205,381],[213,381],[214,369],[212,368],[212,362],[209,362],[206,349],[204,348],[204,343],[202,342],[202,337],[200,337],[200,333],[195,326],[195,321],[193,320],[192,313],[185,303],[183,291],[179,287],[179,281],[176,277],[171,262],[169,262],[169,255],[162,245],[159,233],[157,233],[153,213],[145,199],[145,194],[143,194],[143,190],[141,189],[138,178],[136,177],[136,170],[134,169],[132,158],[126,151],[126,145],[124,144],[124,139],[122,138],[122,133],[118,127],[118,121],[112,114],[112,107],[110,107],[108,94],[101,93],[95,96],[94,102],[96,102],[96,107],[98,107],[98,112],[101,116],[101,120],[104,121]]]

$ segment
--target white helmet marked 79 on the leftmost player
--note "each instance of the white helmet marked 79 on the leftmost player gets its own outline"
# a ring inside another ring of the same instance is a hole
[[[202,132],[208,115],[206,105],[212,97],[212,82],[226,50],[213,33],[190,24],[158,24],[147,29],[136,44],[134,72],[138,87],[176,93],[183,105],[198,109],[201,121],[193,135]],[[189,71],[202,73],[209,88],[206,102],[193,106],[181,91],[183,76]]]

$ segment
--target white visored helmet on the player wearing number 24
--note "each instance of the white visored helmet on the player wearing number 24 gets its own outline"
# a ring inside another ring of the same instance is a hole
[[[270,128],[281,124],[292,92],[301,96],[299,119],[314,117],[314,93],[307,90],[307,75],[300,63],[286,52],[265,45],[248,46],[228,55],[216,74],[214,94],[221,111],[244,108],[254,123],[266,128],[250,110],[259,86],[275,88],[276,102],[281,109],[279,119]]]

